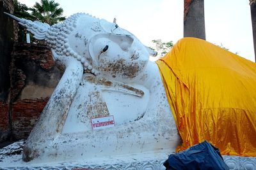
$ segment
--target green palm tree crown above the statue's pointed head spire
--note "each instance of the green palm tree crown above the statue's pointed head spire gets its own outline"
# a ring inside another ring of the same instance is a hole
[[[65,20],[63,15],[63,9],[58,8],[60,4],[55,3],[54,0],[41,0],[31,8],[33,17],[35,20],[40,20],[49,25],[56,24],[62,20]]]

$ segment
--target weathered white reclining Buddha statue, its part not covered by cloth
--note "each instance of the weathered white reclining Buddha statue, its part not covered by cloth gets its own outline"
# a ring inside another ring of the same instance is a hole
[[[180,138],[158,67],[148,60],[154,52],[133,34],[84,13],[52,26],[10,16],[44,39],[65,67],[24,161],[175,151]]]

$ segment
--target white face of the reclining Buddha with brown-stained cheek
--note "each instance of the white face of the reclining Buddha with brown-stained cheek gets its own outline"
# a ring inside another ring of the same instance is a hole
[[[106,33],[90,39],[89,52],[93,67],[108,78],[135,78],[148,62],[145,46],[130,32],[115,23],[101,21]]]

